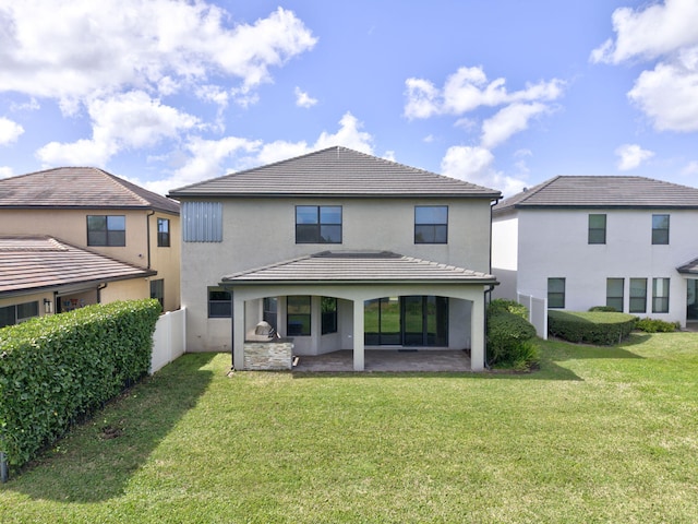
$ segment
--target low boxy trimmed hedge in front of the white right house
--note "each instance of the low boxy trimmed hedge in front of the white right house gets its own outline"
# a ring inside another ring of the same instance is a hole
[[[549,311],[547,331],[568,342],[612,346],[635,329],[636,318],[601,311]]]

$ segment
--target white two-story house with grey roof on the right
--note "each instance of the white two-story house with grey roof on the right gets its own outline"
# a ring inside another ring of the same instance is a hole
[[[501,201],[492,221],[495,297],[698,320],[698,189],[561,176]]]

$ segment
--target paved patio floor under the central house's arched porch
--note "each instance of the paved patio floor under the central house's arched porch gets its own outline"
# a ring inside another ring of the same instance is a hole
[[[353,371],[353,352],[300,356],[293,372]],[[462,350],[397,350],[366,349],[365,371],[471,371],[470,357]]]

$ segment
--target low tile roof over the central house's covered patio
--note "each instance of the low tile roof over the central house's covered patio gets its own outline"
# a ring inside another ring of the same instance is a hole
[[[496,278],[453,265],[405,257],[389,251],[323,251],[277,264],[222,277],[222,283],[473,283],[494,284]]]

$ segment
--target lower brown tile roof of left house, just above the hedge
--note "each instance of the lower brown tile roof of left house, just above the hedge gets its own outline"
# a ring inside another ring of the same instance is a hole
[[[0,236],[0,296],[155,274],[48,236]]]

